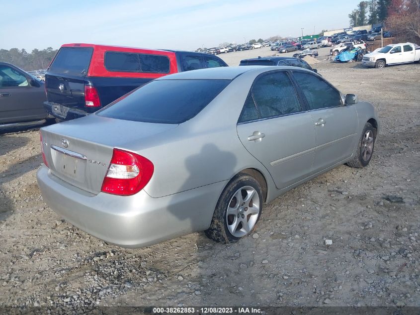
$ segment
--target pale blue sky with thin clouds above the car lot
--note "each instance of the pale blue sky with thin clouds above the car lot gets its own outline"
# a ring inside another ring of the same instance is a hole
[[[0,48],[95,43],[195,50],[348,27],[360,0],[0,0]]]

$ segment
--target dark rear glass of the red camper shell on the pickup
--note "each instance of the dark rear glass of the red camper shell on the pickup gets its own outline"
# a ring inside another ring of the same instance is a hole
[[[70,75],[85,75],[89,68],[93,48],[62,47],[54,58],[49,70]]]

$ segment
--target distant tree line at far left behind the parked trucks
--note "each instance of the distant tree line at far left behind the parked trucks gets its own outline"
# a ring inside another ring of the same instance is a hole
[[[57,49],[52,47],[33,49],[30,53],[25,49],[0,49],[0,61],[11,63],[25,71],[32,71],[46,69],[56,53]]]

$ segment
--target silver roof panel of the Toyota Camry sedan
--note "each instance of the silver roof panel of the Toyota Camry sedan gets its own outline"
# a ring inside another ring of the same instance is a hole
[[[178,72],[175,74],[171,74],[168,76],[155,79],[155,81],[160,81],[160,80],[233,80],[236,77],[250,71],[263,73],[266,71],[279,70],[279,69],[296,70],[296,67],[287,67],[287,66],[217,67],[217,68],[207,68],[207,69]],[[309,72],[309,70],[306,70],[303,68],[298,68],[298,69]]]

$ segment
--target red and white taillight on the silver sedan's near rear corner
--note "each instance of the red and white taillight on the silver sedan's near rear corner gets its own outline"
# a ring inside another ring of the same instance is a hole
[[[145,157],[114,149],[101,192],[130,196],[141,191],[152,178],[154,166]]]

